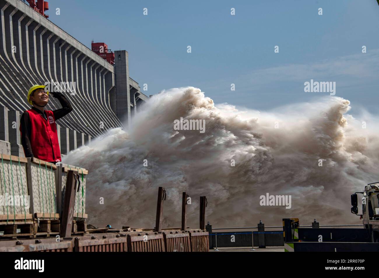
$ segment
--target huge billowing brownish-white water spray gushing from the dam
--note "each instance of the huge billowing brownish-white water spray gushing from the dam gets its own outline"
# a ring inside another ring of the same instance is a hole
[[[183,191],[192,198],[193,228],[199,196],[207,196],[206,221],[213,227],[254,226],[260,219],[281,225],[288,217],[360,224],[350,195],[379,181],[378,121],[366,114],[370,121],[362,128],[346,114],[349,104],[328,96],[258,112],[215,106],[193,87],[171,89],[148,101],[128,132],[109,130],[64,163],[89,169],[88,222],[100,227],[153,228],[158,186],[167,193],[163,227],[180,227]],[[205,132],[174,130],[181,117],[205,120]],[[290,195],[291,208],[261,206],[266,193]]]

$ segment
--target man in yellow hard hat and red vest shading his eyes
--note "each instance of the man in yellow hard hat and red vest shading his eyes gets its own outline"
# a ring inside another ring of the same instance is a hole
[[[45,91],[45,87],[34,85],[28,91],[28,102],[33,107],[21,116],[21,144],[25,157],[36,157],[55,164],[62,161],[55,121],[70,113],[72,106],[62,93],[52,92],[62,108],[46,110],[49,92]]]

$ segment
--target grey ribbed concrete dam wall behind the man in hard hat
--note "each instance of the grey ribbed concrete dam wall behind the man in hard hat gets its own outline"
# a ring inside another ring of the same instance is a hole
[[[148,98],[129,76],[128,53],[115,51],[111,65],[20,0],[0,0],[0,148],[23,156],[19,121],[31,108],[29,88],[71,82],[64,93],[73,111],[57,120],[61,152],[86,144],[105,130],[130,124]],[[60,108],[50,98],[47,110]]]

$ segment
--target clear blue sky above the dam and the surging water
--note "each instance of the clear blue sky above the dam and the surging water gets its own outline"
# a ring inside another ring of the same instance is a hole
[[[376,0],[50,0],[49,7],[49,19],[86,46],[94,39],[127,50],[130,76],[141,89],[148,84],[146,95],[194,86],[215,103],[272,110],[329,95],[304,92],[314,79],[335,81],[353,114],[377,114]]]

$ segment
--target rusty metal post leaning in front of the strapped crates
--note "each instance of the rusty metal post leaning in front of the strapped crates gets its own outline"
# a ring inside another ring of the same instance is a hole
[[[64,192],[64,205],[61,220],[61,237],[71,236],[72,220],[74,219],[76,181],[74,171],[67,172],[66,191]]]

